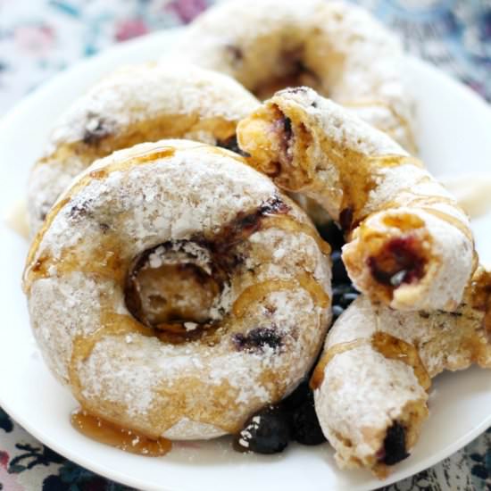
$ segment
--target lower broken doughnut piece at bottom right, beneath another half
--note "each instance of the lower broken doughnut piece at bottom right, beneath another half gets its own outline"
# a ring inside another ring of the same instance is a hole
[[[342,468],[385,477],[428,417],[430,379],[491,368],[491,273],[478,270],[456,312],[396,312],[361,295],[334,323],[311,385]]]

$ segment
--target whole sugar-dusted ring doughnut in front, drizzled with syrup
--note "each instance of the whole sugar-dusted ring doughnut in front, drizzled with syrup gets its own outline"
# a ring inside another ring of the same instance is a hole
[[[329,246],[237,154],[162,140],[73,182],[34,239],[24,290],[47,364],[87,412],[148,437],[216,437],[312,365]]]

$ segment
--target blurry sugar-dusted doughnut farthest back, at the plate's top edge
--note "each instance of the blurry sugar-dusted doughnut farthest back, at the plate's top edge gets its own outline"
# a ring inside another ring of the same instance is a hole
[[[415,149],[402,48],[353,4],[224,2],[200,15],[173,51],[179,59],[229,74],[260,98],[284,87],[315,88]]]

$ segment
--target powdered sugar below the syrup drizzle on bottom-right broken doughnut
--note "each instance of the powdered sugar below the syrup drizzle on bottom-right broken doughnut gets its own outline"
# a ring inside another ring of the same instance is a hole
[[[342,469],[376,465],[387,429],[409,404],[424,406],[428,400],[411,367],[370,345],[337,354],[314,397],[320,426]]]

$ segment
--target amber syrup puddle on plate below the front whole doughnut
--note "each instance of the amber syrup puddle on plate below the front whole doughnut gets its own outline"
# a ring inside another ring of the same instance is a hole
[[[71,426],[96,442],[119,448],[130,454],[160,457],[168,454],[172,447],[171,440],[167,438],[146,437],[139,431],[122,428],[83,409],[71,414]]]

